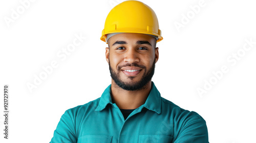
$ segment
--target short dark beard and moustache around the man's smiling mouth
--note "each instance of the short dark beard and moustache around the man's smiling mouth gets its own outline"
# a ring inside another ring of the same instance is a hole
[[[138,65],[137,63],[133,63],[133,64],[125,64],[125,65],[122,65],[122,66],[118,66],[117,67],[117,73],[115,73],[115,71],[113,70],[113,68],[111,67],[110,65],[110,62],[109,62],[109,68],[110,68],[110,76],[111,78],[115,81],[115,83],[122,89],[124,90],[130,90],[130,91],[135,91],[135,90],[141,90],[141,89],[144,89],[145,88],[145,85],[151,81],[154,73],[155,73],[155,60],[153,62],[153,65],[151,66],[151,68],[147,71],[146,70],[146,67],[143,66],[143,65]],[[121,79],[120,79],[120,72],[121,71],[121,68],[122,67],[125,67],[125,66],[137,66],[137,67],[140,67],[142,69],[144,69],[144,74],[141,78],[140,81],[138,82],[133,82],[133,79],[135,77],[128,77],[129,79],[131,79],[130,82],[128,83],[125,83],[123,82]]]

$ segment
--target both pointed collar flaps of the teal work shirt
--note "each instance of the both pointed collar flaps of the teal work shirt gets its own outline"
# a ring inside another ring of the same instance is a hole
[[[151,86],[152,87],[151,87],[150,94],[148,94],[145,104],[141,106],[147,108],[148,110],[152,110],[160,114],[161,113],[161,95],[160,95],[160,92],[157,90],[154,82],[152,82]],[[109,85],[102,93],[99,101],[99,105],[95,109],[95,111],[103,110],[108,104],[113,104],[111,99],[111,85]]]

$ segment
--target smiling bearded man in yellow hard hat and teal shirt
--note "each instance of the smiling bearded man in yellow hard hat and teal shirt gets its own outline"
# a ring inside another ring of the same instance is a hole
[[[162,39],[147,5],[113,8],[101,36],[112,84],[101,98],[67,110],[51,142],[208,142],[203,118],[161,98],[151,81]]]

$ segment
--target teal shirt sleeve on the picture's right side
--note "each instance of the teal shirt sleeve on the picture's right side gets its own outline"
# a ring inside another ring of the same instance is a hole
[[[190,116],[186,118],[184,122],[182,122],[181,129],[174,143],[181,142],[208,143],[208,131],[206,122],[199,114],[193,117]]]

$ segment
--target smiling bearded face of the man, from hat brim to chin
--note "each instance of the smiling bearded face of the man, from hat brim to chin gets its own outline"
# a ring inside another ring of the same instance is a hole
[[[151,81],[158,47],[152,36],[138,33],[121,33],[109,39],[106,61],[115,83],[125,90],[140,90]]]

